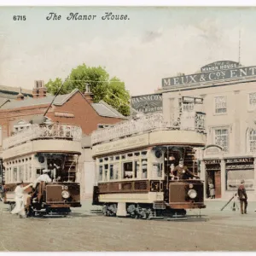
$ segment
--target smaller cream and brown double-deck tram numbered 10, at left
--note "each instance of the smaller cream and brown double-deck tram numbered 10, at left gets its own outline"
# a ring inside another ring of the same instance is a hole
[[[44,170],[50,183],[38,183],[25,190],[27,215],[67,215],[81,207],[80,185],[76,182],[81,154],[81,128],[63,124],[33,124],[3,141],[4,196],[15,206],[15,187],[35,183]]]

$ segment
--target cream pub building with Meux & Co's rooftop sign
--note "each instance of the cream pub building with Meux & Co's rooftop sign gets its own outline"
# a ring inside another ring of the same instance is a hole
[[[198,152],[196,162],[206,197],[213,183],[215,198],[229,200],[244,179],[248,201],[255,200],[256,66],[213,62],[200,73],[162,79],[157,93],[162,93],[166,121],[176,117],[195,122],[192,113],[203,114],[207,147]]]

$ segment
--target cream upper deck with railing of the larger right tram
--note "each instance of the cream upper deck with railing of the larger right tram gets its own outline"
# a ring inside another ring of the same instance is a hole
[[[92,133],[93,157],[130,151],[154,145],[204,146],[205,114],[196,112],[190,119],[166,122],[162,113],[144,115]]]

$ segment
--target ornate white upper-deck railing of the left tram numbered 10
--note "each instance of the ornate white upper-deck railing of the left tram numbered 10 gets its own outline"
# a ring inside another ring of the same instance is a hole
[[[26,130],[3,140],[3,149],[36,139],[68,139],[80,141],[82,130],[75,125],[31,125]]]

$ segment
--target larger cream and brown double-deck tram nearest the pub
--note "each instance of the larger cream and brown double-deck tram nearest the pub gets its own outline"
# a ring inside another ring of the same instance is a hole
[[[94,131],[93,205],[102,205],[106,216],[131,218],[184,216],[187,209],[205,208],[203,182],[197,177],[200,148],[206,143],[203,121],[204,113],[195,113],[193,127],[151,113]],[[182,159],[191,177],[172,174]]]

